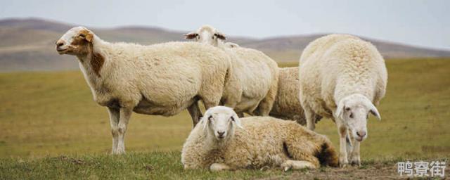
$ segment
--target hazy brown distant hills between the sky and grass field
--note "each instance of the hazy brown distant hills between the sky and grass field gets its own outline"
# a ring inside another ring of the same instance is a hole
[[[75,25],[36,18],[0,20],[0,71],[11,70],[67,70],[78,68],[73,56],[59,56],[54,43],[64,32]],[[106,41],[128,41],[139,44],[155,44],[165,41],[184,41],[186,32],[165,30],[158,27],[92,28]],[[251,39],[230,37],[229,41],[240,46],[259,49],[278,61],[300,58],[307,44],[323,34],[307,36]],[[366,39],[366,38],[364,38]],[[450,57],[450,51],[416,48],[386,41],[371,41],[385,58]]]

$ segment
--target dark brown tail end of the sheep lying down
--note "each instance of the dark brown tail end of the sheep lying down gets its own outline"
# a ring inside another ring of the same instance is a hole
[[[321,166],[338,167],[339,166],[339,156],[336,152],[333,144],[326,139],[320,147],[319,153],[316,155],[317,159],[321,163]]]

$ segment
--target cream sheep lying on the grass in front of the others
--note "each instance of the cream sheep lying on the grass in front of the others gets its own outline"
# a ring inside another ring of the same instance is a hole
[[[292,121],[244,117],[232,108],[206,111],[181,150],[184,169],[288,169],[338,166],[330,140]]]

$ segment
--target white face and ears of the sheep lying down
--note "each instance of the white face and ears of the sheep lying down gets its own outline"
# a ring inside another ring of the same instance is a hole
[[[208,109],[202,121],[203,130],[213,135],[217,141],[226,141],[231,138],[235,127],[243,128],[234,110],[225,106]]]

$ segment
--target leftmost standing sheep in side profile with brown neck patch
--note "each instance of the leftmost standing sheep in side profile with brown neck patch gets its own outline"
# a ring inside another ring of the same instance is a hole
[[[124,134],[133,111],[172,116],[188,108],[195,126],[201,115],[198,100],[210,108],[223,99],[238,99],[226,89],[232,80],[230,56],[213,46],[110,43],[86,27],[74,27],[58,39],[56,50],[77,56],[94,101],[108,108],[113,154],[125,152]]]

